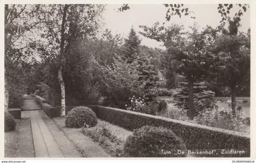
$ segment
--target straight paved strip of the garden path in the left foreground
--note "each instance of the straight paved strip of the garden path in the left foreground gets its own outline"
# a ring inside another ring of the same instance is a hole
[[[31,130],[36,158],[63,158],[59,145],[52,137],[38,111],[30,111]]]

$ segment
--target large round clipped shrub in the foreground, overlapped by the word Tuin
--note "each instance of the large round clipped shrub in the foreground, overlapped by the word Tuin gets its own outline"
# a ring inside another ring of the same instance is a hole
[[[133,130],[124,144],[124,153],[127,157],[184,157],[186,154],[175,154],[177,150],[187,148],[183,140],[171,130],[163,127],[144,126]],[[166,151],[171,151],[166,154]]]

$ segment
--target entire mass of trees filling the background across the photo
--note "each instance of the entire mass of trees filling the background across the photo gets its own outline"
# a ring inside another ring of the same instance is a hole
[[[185,5],[165,7],[167,21],[174,15],[193,17]],[[224,24],[203,30],[160,23],[141,26],[143,36],[162,41],[166,50],[160,50],[141,46],[133,28],[124,40],[110,30],[100,31],[104,5],[5,5],[5,69],[10,71],[5,74],[10,86],[22,88],[18,96],[27,88],[30,92],[38,89],[52,105],[62,105],[62,113],[65,103],[104,101],[105,105],[126,108],[133,95],[153,101],[158,89],[157,72],[165,75],[168,89],[178,88],[180,81],[187,82],[184,88],[190,119],[196,114],[194,88],[201,81],[218,95],[224,95],[222,87],[229,87],[231,93],[227,90],[226,95],[232,94],[235,113],[235,92],[249,90],[250,34],[238,32],[247,5],[240,6],[233,20],[227,16],[232,7],[218,7],[222,22],[229,21],[228,30],[223,30]],[[126,9],[129,5],[124,5]],[[12,74],[20,80],[13,79]]]

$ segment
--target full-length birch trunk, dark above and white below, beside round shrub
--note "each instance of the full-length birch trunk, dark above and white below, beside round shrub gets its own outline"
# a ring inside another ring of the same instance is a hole
[[[65,84],[63,81],[63,76],[62,76],[62,68],[63,64],[65,62],[65,56],[64,56],[64,43],[65,43],[65,24],[66,24],[66,12],[68,10],[68,5],[65,4],[64,9],[63,9],[63,16],[62,16],[62,30],[61,30],[61,38],[60,38],[60,69],[58,71],[58,78],[59,78],[59,83],[60,83],[60,91],[61,91],[61,111],[60,115],[62,117],[66,116],[66,103],[65,103]]]

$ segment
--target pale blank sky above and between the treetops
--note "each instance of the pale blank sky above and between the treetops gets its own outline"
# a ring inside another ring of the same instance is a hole
[[[108,4],[105,7],[103,18],[105,28],[112,30],[114,34],[120,33],[124,37],[127,37],[132,27],[138,33],[139,31],[142,32],[139,27],[140,25],[151,27],[157,21],[161,24],[166,23],[165,26],[182,24],[185,26],[185,29],[188,29],[189,26],[193,26],[194,23],[197,23],[200,27],[210,25],[215,28],[219,25],[219,21],[221,21],[221,15],[218,13],[217,9],[218,4],[185,4],[184,6],[194,12],[193,16],[195,16],[196,19],[192,19],[190,16],[182,16],[182,18],[172,16],[169,22],[166,22],[166,8],[162,4],[129,4],[130,10],[117,12],[120,6],[121,4]],[[235,7],[230,10],[230,16],[232,17],[236,11],[238,11],[238,7],[235,5]],[[249,9],[241,16],[240,24],[241,27],[239,30],[241,32],[247,32],[250,27]],[[142,45],[165,49],[162,43],[145,38],[139,33],[138,35],[142,39]]]

